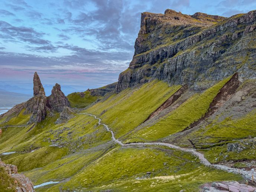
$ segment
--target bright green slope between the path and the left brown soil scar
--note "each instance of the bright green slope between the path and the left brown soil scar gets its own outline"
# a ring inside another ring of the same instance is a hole
[[[111,127],[117,138],[137,127],[155,111],[163,102],[174,94],[181,86],[169,87],[162,81],[152,81],[142,87],[130,88],[113,94],[105,101],[86,110],[92,113]],[[101,113],[106,110],[104,114]]]

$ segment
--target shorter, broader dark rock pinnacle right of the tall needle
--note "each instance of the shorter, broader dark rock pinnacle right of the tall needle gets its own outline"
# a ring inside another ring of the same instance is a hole
[[[61,91],[61,85],[55,84],[52,88],[52,94],[47,98],[49,107],[57,112],[61,112],[64,107],[70,107],[68,98]]]

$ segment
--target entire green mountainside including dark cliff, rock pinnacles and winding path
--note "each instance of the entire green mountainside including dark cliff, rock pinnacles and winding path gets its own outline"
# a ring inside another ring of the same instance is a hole
[[[34,96],[0,115],[1,160],[38,192],[253,192],[255,29],[256,11],[142,13],[117,83],[46,97],[35,73]]]

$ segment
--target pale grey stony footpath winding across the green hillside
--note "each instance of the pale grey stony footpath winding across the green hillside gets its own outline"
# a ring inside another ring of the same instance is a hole
[[[118,139],[115,138],[113,131],[111,131],[108,126],[106,124],[101,123],[101,119],[97,118],[95,115],[92,114],[88,114],[88,113],[79,113],[79,114],[84,114],[84,115],[90,115],[92,117],[94,117],[95,119],[98,120],[98,124],[99,125],[103,125],[107,131],[110,131],[112,134],[112,139],[114,142],[120,144],[121,146],[145,146],[145,145],[160,145],[160,146],[166,146],[166,147],[170,147],[172,149],[178,149],[184,152],[189,152],[192,153],[193,155],[197,156],[200,159],[200,162],[202,164],[204,164],[205,166],[211,166],[211,167],[215,167],[216,169],[221,169],[230,173],[240,173],[245,179],[252,181],[252,175],[256,178],[256,171],[247,171],[247,170],[239,170],[237,168],[232,168],[232,167],[228,167],[225,165],[217,165],[217,164],[211,164],[207,159],[205,159],[204,154],[197,152],[197,150],[192,149],[192,148],[184,148],[184,147],[179,147],[173,144],[169,144],[169,143],[161,143],[161,142],[145,142],[145,143],[127,143],[124,144],[121,141],[119,141]],[[255,182],[255,180],[254,180]]]

